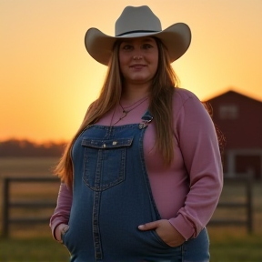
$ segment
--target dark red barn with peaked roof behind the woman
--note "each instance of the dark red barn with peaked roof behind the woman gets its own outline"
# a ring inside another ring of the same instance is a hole
[[[262,102],[228,91],[207,102],[213,107],[213,120],[226,136],[224,172],[237,176],[252,169],[262,179]]]

